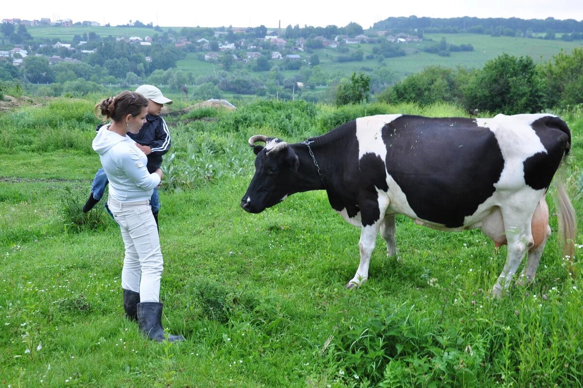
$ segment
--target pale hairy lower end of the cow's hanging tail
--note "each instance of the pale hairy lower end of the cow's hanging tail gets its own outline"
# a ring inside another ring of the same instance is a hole
[[[563,258],[568,260],[569,272],[571,277],[576,275],[575,263],[575,240],[577,239],[577,218],[575,218],[575,209],[571,204],[567,194],[567,185],[564,174],[559,173],[557,176],[557,202],[558,202],[558,221],[559,221],[559,240],[563,246]]]

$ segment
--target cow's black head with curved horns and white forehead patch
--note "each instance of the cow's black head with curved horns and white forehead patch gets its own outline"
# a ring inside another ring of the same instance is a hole
[[[255,142],[265,142],[265,147]],[[285,141],[255,135],[249,139],[255,158],[255,175],[241,200],[241,207],[259,213],[283,201],[292,194],[293,176],[300,162]]]

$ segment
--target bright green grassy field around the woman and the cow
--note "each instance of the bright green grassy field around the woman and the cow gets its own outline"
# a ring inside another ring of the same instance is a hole
[[[96,120],[85,114],[93,103],[0,114],[9,144],[0,149],[5,386],[583,385],[583,281],[568,276],[554,216],[535,284],[492,300],[506,250],[496,253],[476,230],[438,232],[399,217],[398,259],[379,237],[370,279],[349,291],[359,231],[325,193],[296,194],[258,215],[238,206],[253,173],[252,134],[299,141],[365,114],[463,115],[447,105],[259,102],[167,117],[163,326],[187,341],[146,341],[124,318],[117,225],[100,205],[89,216],[79,210],[99,168]],[[563,117],[581,223],[583,113]]]

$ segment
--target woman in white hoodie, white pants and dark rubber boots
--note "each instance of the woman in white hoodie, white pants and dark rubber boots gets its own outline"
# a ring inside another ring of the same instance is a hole
[[[94,113],[103,115],[104,125],[93,140],[101,166],[110,182],[107,205],[120,225],[124,239],[124,268],[121,286],[124,310],[137,320],[152,340],[163,341],[161,326],[160,277],[163,269],[160,239],[150,208],[150,197],[162,179],[162,170],[149,173],[147,157],[127,133],[136,134],[146,122],[148,100],[136,92],[121,92],[101,101]],[[99,117],[99,116],[98,116]],[[168,341],[184,341],[170,335]]]

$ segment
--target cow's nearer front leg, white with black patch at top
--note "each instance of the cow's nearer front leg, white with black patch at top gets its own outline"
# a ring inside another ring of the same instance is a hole
[[[376,198],[375,198],[376,199]],[[382,217],[388,207],[388,198],[378,196],[376,201],[367,201],[360,207],[363,226],[360,229],[360,264],[354,277],[346,284],[346,288],[354,288],[363,284],[368,279],[368,265],[373,254],[374,245],[377,242],[378,230],[381,227]]]

